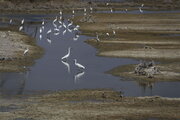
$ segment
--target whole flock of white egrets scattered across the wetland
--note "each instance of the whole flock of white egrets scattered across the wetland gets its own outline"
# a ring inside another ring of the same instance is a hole
[[[106,3],[106,6],[108,7],[109,6],[109,3]],[[142,4],[140,7],[139,7],[139,11],[140,13],[143,13],[143,10],[142,8],[144,7],[144,4]],[[109,7],[108,7],[109,8]],[[125,9],[125,11],[127,11],[127,9]],[[89,8],[89,12],[90,13],[93,13],[93,8],[90,7]],[[110,7],[110,12],[113,13],[114,10],[113,8]],[[83,14],[84,15],[87,15],[87,8],[84,8],[83,9]],[[73,9],[72,10],[72,18],[74,18],[74,15],[75,15],[75,10]],[[12,24],[13,20],[10,19],[9,23]],[[21,20],[21,24],[20,24],[20,27],[19,27],[19,31],[22,31],[24,29],[24,23],[25,23],[25,20],[22,19]],[[52,21],[52,25],[53,25],[53,28],[49,29],[46,31],[46,40],[49,44],[52,43],[51,39],[50,39],[50,35],[53,33],[55,36],[56,35],[59,35],[60,34],[60,29],[63,28],[64,31],[62,32],[63,35],[66,34],[66,32],[74,32],[76,33],[75,34],[75,37],[73,38],[74,41],[77,41],[78,38],[80,37],[77,33],[79,31],[79,28],[80,26],[79,25],[74,25],[73,24],[73,21],[71,21],[70,19],[68,19],[68,24],[65,24],[65,22],[63,22],[63,11],[60,11],[59,12],[59,15],[55,17],[55,19]],[[42,23],[41,23],[41,27],[39,28],[39,39],[41,40],[42,39],[42,33],[45,32],[45,21],[43,19]],[[116,31],[115,30],[112,30],[112,34],[113,35],[116,35]],[[110,36],[110,33],[106,33],[107,36]],[[100,42],[100,39],[99,39],[99,35],[98,33],[96,32],[96,40],[97,42]],[[26,48],[23,52],[23,55],[27,55],[29,52],[29,48]],[[67,67],[68,69],[68,73],[70,73],[70,65],[68,64],[68,58],[70,57],[71,55],[71,47],[68,48],[68,51],[67,51],[67,54],[65,54],[62,58],[61,58],[61,62]],[[81,76],[84,75],[84,71],[85,70],[85,66],[83,66],[82,64],[78,63],[77,62],[77,59],[74,59],[74,65],[79,69],[79,73],[75,75],[74,79],[79,79]]]

